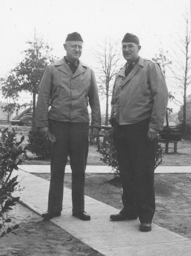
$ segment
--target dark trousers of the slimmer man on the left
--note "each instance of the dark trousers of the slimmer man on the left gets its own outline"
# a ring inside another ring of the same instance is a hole
[[[62,210],[64,172],[67,156],[72,170],[72,212],[84,211],[85,168],[88,156],[89,124],[49,120],[50,132],[56,136],[51,144],[48,211]]]

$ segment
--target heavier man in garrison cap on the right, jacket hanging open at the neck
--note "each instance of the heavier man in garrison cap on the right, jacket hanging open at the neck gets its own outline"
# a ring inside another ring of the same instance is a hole
[[[154,169],[158,133],[163,129],[168,90],[160,66],[139,56],[139,38],[126,33],[127,60],[116,74],[110,123],[123,187],[123,209],[110,219],[137,219],[141,231],[152,229],[155,212]]]

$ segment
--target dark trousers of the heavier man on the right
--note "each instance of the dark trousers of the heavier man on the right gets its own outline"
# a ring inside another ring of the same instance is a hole
[[[122,212],[152,222],[155,212],[154,166],[156,140],[147,137],[149,120],[116,124],[113,139],[123,187]]]

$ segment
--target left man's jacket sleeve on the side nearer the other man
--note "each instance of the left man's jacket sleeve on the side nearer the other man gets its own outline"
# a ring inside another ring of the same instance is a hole
[[[98,127],[101,129],[101,110],[100,110],[100,102],[98,96],[98,89],[96,84],[95,75],[92,69],[90,69],[91,73],[91,83],[90,89],[88,91],[89,104],[91,107],[91,126]]]

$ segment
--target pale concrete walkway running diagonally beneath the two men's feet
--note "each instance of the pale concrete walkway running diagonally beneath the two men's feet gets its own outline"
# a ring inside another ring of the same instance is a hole
[[[34,165],[27,166],[35,172]],[[24,190],[21,195],[15,192],[14,196],[20,196],[22,203],[41,214],[47,209],[49,181],[22,170],[13,172],[17,174]],[[138,220],[110,221],[110,214],[119,210],[88,196],[85,196],[85,209],[91,214],[90,221],[73,217],[71,190],[64,188],[62,215],[51,221],[106,256],[191,255],[191,239],[168,229],[153,224],[151,232],[140,232]]]

